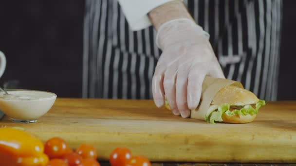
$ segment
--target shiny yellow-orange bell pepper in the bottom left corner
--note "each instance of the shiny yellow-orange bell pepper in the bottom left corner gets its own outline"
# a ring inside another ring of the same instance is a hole
[[[13,128],[0,129],[0,166],[45,166],[44,145],[35,136]]]

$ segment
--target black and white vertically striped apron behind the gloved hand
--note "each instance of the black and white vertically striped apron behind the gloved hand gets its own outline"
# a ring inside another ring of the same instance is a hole
[[[277,99],[281,0],[185,0],[210,42],[226,78],[260,99]],[[132,32],[117,0],[86,0],[84,98],[151,99],[161,54],[153,27]]]

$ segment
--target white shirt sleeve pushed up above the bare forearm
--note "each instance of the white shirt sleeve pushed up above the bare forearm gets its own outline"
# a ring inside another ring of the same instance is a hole
[[[132,31],[149,27],[151,22],[147,14],[169,1],[172,0],[118,0]]]

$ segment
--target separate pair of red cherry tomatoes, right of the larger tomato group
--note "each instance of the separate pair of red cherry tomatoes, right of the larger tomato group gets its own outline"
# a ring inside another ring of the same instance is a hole
[[[132,156],[127,148],[116,148],[110,154],[111,166],[151,166],[150,161],[143,156]]]

